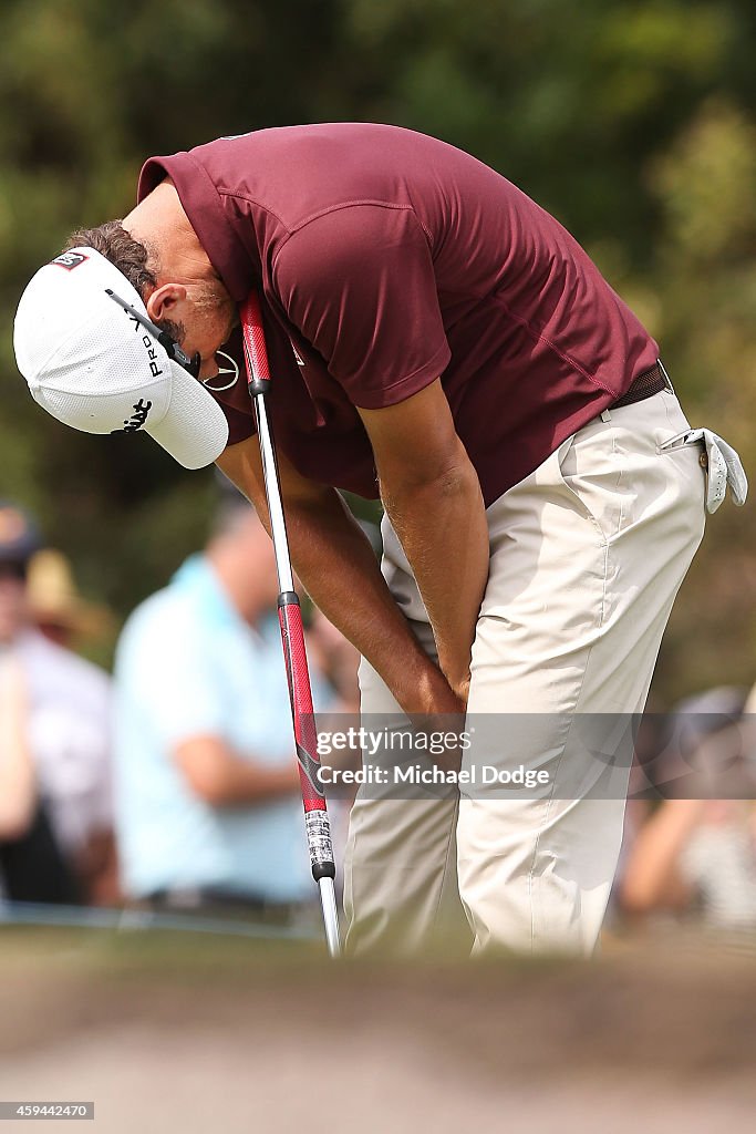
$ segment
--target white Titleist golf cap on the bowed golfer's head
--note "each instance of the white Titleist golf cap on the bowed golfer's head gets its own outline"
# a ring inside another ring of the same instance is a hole
[[[147,318],[94,248],[63,252],[32,278],[14,347],[34,400],[85,433],[143,430],[185,468],[212,464],[228,441],[221,407],[110,291]]]

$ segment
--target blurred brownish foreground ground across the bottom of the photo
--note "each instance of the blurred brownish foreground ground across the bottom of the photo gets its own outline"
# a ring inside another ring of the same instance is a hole
[[[0,1099],[93,1099],[109,1134],[753,1128],[756,957],[724,941],[379,965],[5,926],[0,1005]]]

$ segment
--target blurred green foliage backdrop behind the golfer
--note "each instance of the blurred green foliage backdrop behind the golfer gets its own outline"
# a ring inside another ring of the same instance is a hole
[[[755,46],[750,0],[6,0],[0,497],[34,509],[120,615],[201,543],[212,473],[42,414],[12,313],[71,229],[128,211],[150,154],[339,119],[435,134],[553,212],[662,344],[688,416],[753,472]],[[663,650],[664,701],[756,677],[750,516],[710,522]]]

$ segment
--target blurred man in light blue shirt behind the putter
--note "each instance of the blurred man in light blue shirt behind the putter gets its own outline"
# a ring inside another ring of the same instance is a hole
[[[314,895],[277,596],[271,541],[239,497],[126,624],[116,813],[131,899],[286,922]]]

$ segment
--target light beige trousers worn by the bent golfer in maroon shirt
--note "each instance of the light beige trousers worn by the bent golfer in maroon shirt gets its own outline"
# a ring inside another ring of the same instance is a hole
[[[527,798],[464,785],[461,797],[453,787],[411,799],[362,788],[345,861],[348,953],[594,949],[628,769],[609,769],[608,784],[606,765],[586,762],[591,743],[578,726],[645,704],[704,530],[698,450],[659,448],[686,428],[671,390],[612,409],[487,509],[491,567],[468,721],[489,727],[464,760],[546,769],[552,781]],[[383,574],[432,653],[409,564],[385,521],[383,535]],[[406,726],[364,660],[359,676],[366,719]]]

